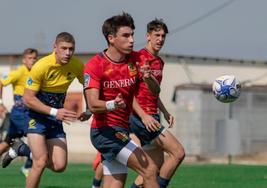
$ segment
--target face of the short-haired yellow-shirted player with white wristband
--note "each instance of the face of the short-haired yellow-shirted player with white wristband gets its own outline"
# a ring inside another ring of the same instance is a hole
[[[75,50],[75,45],[70,42],[58,42],[54,45],[57,63],[67,64],[70,62]]]

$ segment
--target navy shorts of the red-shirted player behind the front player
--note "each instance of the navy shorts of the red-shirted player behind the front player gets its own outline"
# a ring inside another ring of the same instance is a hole
[[[160,122],[159,114],[153,114],[151,116]],[[134,133],[139,138],[142,146],[150,144],[150,142],[158,137],[163,130],[164,127],[161,126],[158,131],[149,132],[138,115],[130,115],[130,132]]]

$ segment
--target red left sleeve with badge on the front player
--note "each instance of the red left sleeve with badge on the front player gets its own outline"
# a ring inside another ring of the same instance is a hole
[[[84,67],[84,89],[100,89],[102,67],[103,66],[101,66],[100,62],[96,61],[95,59],[87,62]]]

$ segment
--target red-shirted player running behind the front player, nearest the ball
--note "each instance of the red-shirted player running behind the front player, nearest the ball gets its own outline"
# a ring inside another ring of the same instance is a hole
[[[161,83],[164,62],[158,53],[164,45],[168,28],[159,19],[147,24],[147,44],[139,53],[145,58],[151,67],[153,76]],[[167,187],[176,168],[183,161],[185,152],[179,141],[160,124],[158,109],[163,113],[164,118],[173,126],[174,118],[166,110],[160,97],[153,95],[144,82],[139,83],[138,91],[133,102],[133,114],[130,116],[131,131],[138,137],[141,145],[154,162],[159,166],[160,173],[158,183],[161,188]],[[168,154],[164,161],[163,151]],[[137,178],[132,188],[142,184],[141,176]]]

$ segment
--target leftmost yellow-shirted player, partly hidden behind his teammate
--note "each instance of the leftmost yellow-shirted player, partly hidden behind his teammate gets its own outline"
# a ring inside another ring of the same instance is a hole
[[[0,156],[8,150],[10,150],[4,156],[2,161],[2,167],[5,168],[10,164],[13,158],[17,156],[27,156],[25,165],[21,168],[25,176],[28,174],[28,170],[32,166],[32,160],[30,157],[29,147],[20,139],[26,136],[26,130],[29,123],[28,109],[22,102],[22,96],[24,93],[24,87],[29,76],[30,70],[33,64],[37,61],[38,51],[33,48],[24,50],[22,54],[22,63],[18,69],[11,71],[7,76],[4,76],[0,80],[0,114],[4,115],[7,112],[6,107],[2,99],[3,87],[12,84],[14,94],[14,105],[11,109],[9,118],[9,128],[6,138],[0,143]]]

